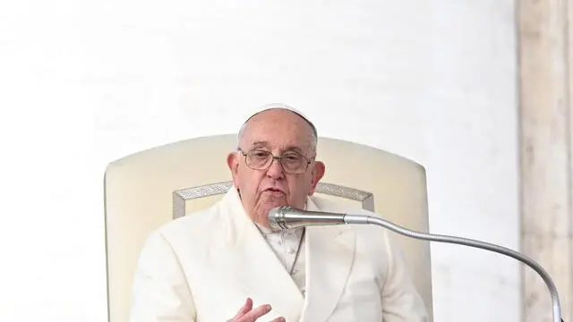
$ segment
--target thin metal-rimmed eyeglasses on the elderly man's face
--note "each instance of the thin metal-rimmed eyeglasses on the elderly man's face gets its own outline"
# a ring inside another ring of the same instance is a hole
[[[295,151],[287,151],[281,156],[275,157],[269,151],[261,149],[252,149],[246,153],[241,148],[237,149],[243,154],[246,165],[252,170],[266,170],[274,160],[278,160],[287,174],[303,174],[312,162],[312,159],[308,159]]]

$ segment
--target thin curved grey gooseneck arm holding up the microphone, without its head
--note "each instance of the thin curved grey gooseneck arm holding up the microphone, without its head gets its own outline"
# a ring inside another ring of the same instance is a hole
[[[454,244],[461,244],[470,247],[475,247],[483,250],[492,250],[497,253],[507,255],[511,258],[516,258],[517,260],[525,263],[527,266],[533,268],[535,272],[537,272],[543,278],[543,281],[547,285],[549,292],[552,296],[552,305],[553,305],[553,322],[563,322],[561,318],[561,309],[560,309],[560,302],[559,302],[559,294],[557,292],[557,287],[552,281],[551,276],[541,267],[539,264],[535,262],[535,260],[526,257],[523,254],[518,253],[515,250],[509,250],[508,248],[495,245],[488,242],[479,242],[467,238],[461,237],[454,237],[454,236],[446,236],[446,235],[438,235],[432,233],[419,233],[415,231],[408,230],[402,226],[392,224],[387,220],[382,219],[381,217],[377,216],[360,216],[360,215],[344,215],[344,221],[346,224],[373,224],[373,225],[380,225],[384,228],[391,230],[392,232],[399,233],[402,235],[406,235],[407,237],[412,237],[415,239],[423,240],[423,241],[431,241],[431,242],[448,242]]]

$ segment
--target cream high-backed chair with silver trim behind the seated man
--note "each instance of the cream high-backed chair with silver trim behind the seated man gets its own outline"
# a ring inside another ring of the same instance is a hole
[[[121,158],[105,175],[108,322],[129,317],[133,273],[148,235],[170,220],[207,208],[231,187],[227,154],[235,135],[175,142]],[[326,174],[316,198],[338,199],[390,221],[428,231],[423,166],[377,148],[319,138]],[[380,229],[384,229],[381,228]],[[428,242],[395,234],[432,318]]]

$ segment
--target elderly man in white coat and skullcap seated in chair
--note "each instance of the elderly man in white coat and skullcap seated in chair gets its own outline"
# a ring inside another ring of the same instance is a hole
[[[270,106],[252,115],[227,156],[234,189],[150,235],[131,321],[426,321],[384,230],[269,226],[269,210],[280,206],[348,210],[312,196],[325,173],[316,148],[314,125],[295,110]]]

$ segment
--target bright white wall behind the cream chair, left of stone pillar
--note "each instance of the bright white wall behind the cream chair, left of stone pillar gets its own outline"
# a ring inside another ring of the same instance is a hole
[[[284,102],[423,164],[433,233],[518,248],[513,2],[0,4],[0,320],[106,319],[107,162]],[[436,321],[519,321],[509,258],[436,244]]]

